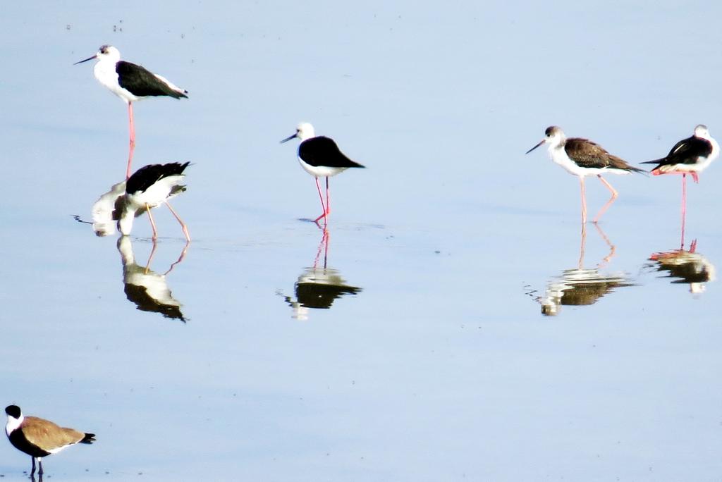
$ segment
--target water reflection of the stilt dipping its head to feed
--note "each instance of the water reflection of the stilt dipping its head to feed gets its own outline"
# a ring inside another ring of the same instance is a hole
[[[186,257],[189,244],[189,242],[186,242],[181,255],[178,256],[178,260],[170,265],[168,271],[160,274],[150,269],[150,263],[153,256],[155,256],[157,247],[155,241],[153,241],[148,262],[145,266],[140,266],[136,263],[130,237],[121,236],[118,239],[118,252],[121,253],[121,261],[123,262],[124,291],[126,297],[136,304],[138,310],[157,312],[166,318],[186,322],[186,318],[183,317],[183,312],[181,312],[181,302],[173,298],[165,277]]]

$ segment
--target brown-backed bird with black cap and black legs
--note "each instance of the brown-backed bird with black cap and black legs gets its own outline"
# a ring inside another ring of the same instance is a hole
[[[95,434],[87,434],[75,429],[66,429],[53,422],[38,417],[23,416],[19,406],[5,408],[7,424],[5,433],[10,443],[20,452],[32,458],[30,476],[35,473],[35,460],[38,460],[40,477],[43,476],[42,458],[56,454],[74,444],[92,444]]]

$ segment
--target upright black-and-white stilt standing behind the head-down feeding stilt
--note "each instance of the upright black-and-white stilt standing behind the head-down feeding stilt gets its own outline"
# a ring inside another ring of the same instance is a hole
[[[126,102],[128,105],[128,118],[130,130],[131,153],[126,169],[126,179],[131,175],[131,162],[135,147],[135,125],[133,122],[133,102],[147,97],[173,97],[181,99],[188,97],[188,91],[171,83],[158,74],[153,74],[143,66],[135,63],[121,61],[121,53],[113,45],[103,45],[94,56],[88,57],[78,63],[87,62],[97,58],[93,74],[100,84],[107,87],[110,92]]]

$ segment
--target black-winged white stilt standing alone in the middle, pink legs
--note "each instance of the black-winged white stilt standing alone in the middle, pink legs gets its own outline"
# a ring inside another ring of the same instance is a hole
[[[295,138],[301,140],[301,144],[298,146],[298,162],[308,174],[316,178],[316,188],[318,189],[318,196],[321,198],[323,214],[314,219],[314,222],[318,223],[318,220],[323,218],[323,223],[326,224],[331,213],[329,178],[339,174],[339,172],[344,172],[349,167],[365,166],[346,157],[339,149],[339,146],[336,145],[334,139],[316,136],[316,131],[308,122],[298,124],[296,132],[281,142],[284,143]],[[323,194],[321,194],[321,185],[318,184],[318,178],[326,178],[326,203],[323,202]]]

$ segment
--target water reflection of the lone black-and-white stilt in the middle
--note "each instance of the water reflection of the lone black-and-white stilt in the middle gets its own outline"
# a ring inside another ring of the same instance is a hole
[[[323,267],[319,266],[321,253],[323,253]],[[328,267],[328,259],[329,231],[323,229],[316,258],[313,260],[313,267],[305,268],[294,285],[295,299],[282,295],[292,307],[292,317],[295,319],[308,320],[310,308],[328,310],[336,299],[346,294],[357,294],[362,291],[357,286],[345,284],[339,271]]]

